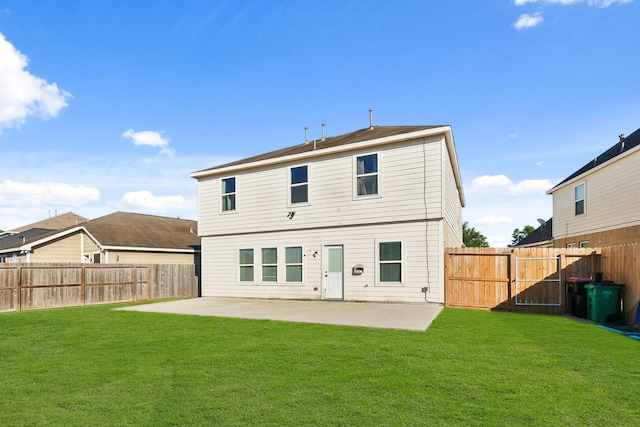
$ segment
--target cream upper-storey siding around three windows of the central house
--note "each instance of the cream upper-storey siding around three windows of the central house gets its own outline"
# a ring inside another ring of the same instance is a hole
[[[333,225],[441,218],[443,138],[411,141],[316,159],[309,170],[309,203],[288,203],[287,166],[236,174],[236,212],[220,213],[220,178],[199,182],[199,233],[217,234],[305,229]],[[377,152],[380,197],[354,197],[354,156]],[[426,157],[424,157],[426,156]],[[425,161],[426,159],[426,161]],[[302,164],[297,162],[295,164]],[[226,175],[225,175],[226,176]],[[289,212],[295,211],[293,219]]]

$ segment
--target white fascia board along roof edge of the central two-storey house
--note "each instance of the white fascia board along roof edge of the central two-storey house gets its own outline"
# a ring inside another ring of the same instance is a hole
[[[376,146],[386,145],[386,144],[393,144],[396,142],[408,141],[411,139],[426,138],[429,136],[434,136],[439,134],[446,135],[447,133],[451,135],[451,126],[440,126],[437,128],[423,129],[415,132],[401,133],[401,134],[396,134],[391,136],[385,136],[383,138],[369,139],[366,141],[339,145],[337,147],[332,147],[332,148],[323,148],[320,150],[306,151],[304,153],[299,153],[299,154],[291,154],[289,156],[274,157],[272,159],[265,159],[257,162],[243,163],[240,165],[228,166],[226,168],[213,169],[213,170],[209,169],[209,170],[204,170],[200,172],[193,172],[189,176],[191,178],[200,179],[200,178],[207,178],[207,177],[216,176],[216,175],[228,175],[228,174],[242,171],[245,169],[254,169],[254,168],[259,168],[264,166],[276,165],[279,163],[299,162],[301,160],[306,160],[314,157],[329,156],[331,154],[336,154],[336,153],[362,150],[365,148],[371,148],[371,147],[376,147]],[[453,138],[451,136],[449,137],[449,141],[451,141],[451,144],[453,144]],[[309,142],[309,144],[312,144],[312,143],[313,141]],[[456,170],[457,170],[457,161],[456,161]],[[460,175],[459,172],[457,172],[456,179],[459,178],[459,175]]]

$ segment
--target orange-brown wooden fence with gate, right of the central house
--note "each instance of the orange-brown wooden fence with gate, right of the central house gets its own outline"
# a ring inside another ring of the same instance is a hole
[[[446,305],[525,313],[571,312],[565,281],[601,271],[599,252],[593,248],[447,248]]]

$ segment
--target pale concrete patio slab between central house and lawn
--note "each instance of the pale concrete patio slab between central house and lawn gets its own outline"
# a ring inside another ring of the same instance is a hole
[[[116,310],[425,331],[442,305],[203,297]]]

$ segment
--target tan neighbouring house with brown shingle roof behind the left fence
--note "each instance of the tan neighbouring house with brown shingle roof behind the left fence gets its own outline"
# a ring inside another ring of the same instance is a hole
[[[0,262],[199,264],[196,221],[116,212],[0,239]]]

